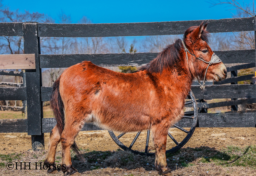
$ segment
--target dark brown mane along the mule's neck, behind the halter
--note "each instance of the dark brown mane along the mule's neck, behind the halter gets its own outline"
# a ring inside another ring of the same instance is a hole
[[[140,70],[148,70],[150,73],[162,73],[164,68],[171,67],[180,60],[181,46],[181,40],[177,39],[172,45],[168,45],[161,51],[155,59],[142,66]]]

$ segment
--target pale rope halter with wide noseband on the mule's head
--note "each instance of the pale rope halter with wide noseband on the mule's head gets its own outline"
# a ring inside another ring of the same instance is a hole
[[[184,46],[184,50],[185,50],[185,52],[186,52],[187,61],[188,61],[188,52],[189,52],[192,56],[196,57],[195,54],[191,53],[191,52],[188,50],[188,48],[185,46],[184,41],[182,40],[181,42],[182,42],[182,44],[183,44],[183,46]],[[211,60],[210,60],[209,62],[207,62],[207,61],[205,61],[204,59],[201,59],[201,58],[199,58],[199,57],[196,57],[196,58],[198,58],[199,60],[201,60],[201,61],[205,62],[206,64],[208,64],[208,66],[207,66],[207,68],[206,68],[206,71],[205,71],[205,74],[204,74],[203,84],[201,84],[201,82],[200,82],[199,79],[198,79],[198,76],[196,76],[196,79],[197,79],[198,83],[200,84],[200,88],[201,88],[201,89],[204,89],[204,88],[205,88],[205,86],[204,86],[204,84],[205,84],[205,78],[206,78],[206,73],[207,73],[208,67],[209,67],[210,65],[212,65],[212,64],[217,64],[217,63],[220,63],[220,62],[222,62],[222,61],[220,60],[220,58],[219,58],[215,53],[212,54]],[[188,67],[188,69],[189,69],[189,67]]]

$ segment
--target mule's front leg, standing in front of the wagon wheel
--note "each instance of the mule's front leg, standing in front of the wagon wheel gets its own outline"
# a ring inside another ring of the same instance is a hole
[[[155,160],[155,167],[156,170],[163,175],[171,176],[171,169],[167,166],[166,163],[166,140],[169,126],[166,124],[160,123],[151,127],[152,129],[152,137],[154,141],[154,146],[156,150],[156,160]]]

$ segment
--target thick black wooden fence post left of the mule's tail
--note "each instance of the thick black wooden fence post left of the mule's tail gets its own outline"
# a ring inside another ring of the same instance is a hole
[[[43,106],[41,102],[42,77],[39,67],[40,38],[37,35],[37,23],[22,24],[25,54],[35,54],[36,69],[26,70],[28,135],[31,135],[32,149],[44,150],[42,133]]]

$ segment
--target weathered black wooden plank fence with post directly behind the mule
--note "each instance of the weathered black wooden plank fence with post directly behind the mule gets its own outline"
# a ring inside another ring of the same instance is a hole
[[[157,53],[150,52],[42,55],[40,53],[40,37],[110,37],[183,34],[188,27],[198,26],[201,22],[202,20],[119,24],[0,23],[0,36],[23,36],[25,55],[34,54],[34,61],[28,63],[31,64],[29,66],[32,66],[32,68],[25,68],[26,83],[24,83],[24,86],[26,85],[26,87],[0,88],[0,100],[27,101],[27,119],[0,120],[0,132],[26,132],[28,135],[31,135],[32,149],[44,149],[44,133],[50,132],[53,126],[55,126],[56,121],[53,118],[43,118],[42,102],[50,100],[52,87],[42,87],[42,68],[69,67],[84,60],[92,61],[92,63],[99,66],[140,66],[150,62],[157,56]],[[204,22],[208,23],[207,30],[210,33],[256,31],[255,17],[204,20]],[[224,64],[249,63],[255,67],[255,50],[214,52],[221,58]],[[25,63],[28,55],[22,56],[22,58],[25,59],[23,60]],[[19,63],[23,63],[23,61]],[[238,70],[238,67],[241,66],[237,66],[237,68],[230,67],[228,71]],[[19,68],[21,68],[20,65]],[[4,67],[1,59],[0,69],[8,69]],[[15,66],[15,69],[18,69],[17,66]],[[239,79],[241,78],[234,77],[229,79],[229,81],[236,82]],[[247,102],[245,103],[255,103],[256,98],[256,87],[254,84],[215,84],[206,86],[204,90],[201,90],[199,86],[195,85],[191,89],[196,98],[200,100],[246,98],[244,101]],[[242,101],[243,99],[231,100],[228,103],[230,105],[236,105]],[[216,106],[216,104],[201,104],[203,108],[207,108],[204,105],[208,106],[208,108],[210,106]],[[200,113],[198,119],[199,127],[254,127],[256,113],[246,111],[220,114]],[[82,130],[101,129],[92,124],[85,124]]]

